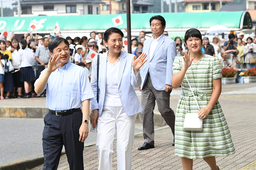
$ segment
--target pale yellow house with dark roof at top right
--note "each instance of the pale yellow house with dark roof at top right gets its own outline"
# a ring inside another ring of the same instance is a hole
[[[234,1],[222,0],[222,5],[232,2]],[[180,3],[185,6],[185,12],[218,12],[220,10],[220,0],[184,0]]]

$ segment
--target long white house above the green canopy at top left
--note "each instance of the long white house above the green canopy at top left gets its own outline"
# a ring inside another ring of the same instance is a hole
[[[99,0],[21,0],[21,17],[100,14]],[[12,5],[17,5],[17,2]],[[14,16],[18,16],[14,11]]]

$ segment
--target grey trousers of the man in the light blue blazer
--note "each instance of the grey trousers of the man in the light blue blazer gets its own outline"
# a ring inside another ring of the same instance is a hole
[[[175,115],[170,108],[170,93],[164,90],[156,90],[148,76],[146,83],[141,90],[142,122],[144,142],[154,145],[154,108],[157,103],[158,111],[165,122],[172,129],[174,136]]]

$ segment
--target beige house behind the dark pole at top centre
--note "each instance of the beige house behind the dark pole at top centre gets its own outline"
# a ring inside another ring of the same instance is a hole
[[[100,4],[100,14],[109,14],[109,0],[101,0],[104,4]],[[154,4],[142,0],[132,0],[132,13],[146,13],[148,7]],[[112,0],[111,1],[111,14],[126,13],[125,0]]]

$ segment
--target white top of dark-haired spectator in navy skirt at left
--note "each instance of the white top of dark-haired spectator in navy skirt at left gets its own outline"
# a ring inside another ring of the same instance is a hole
[[[30,48],[26,47],[24,50],[19,49],[18,61],[19,67],[30,67],[33,64],[34,56]]]

